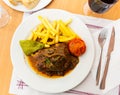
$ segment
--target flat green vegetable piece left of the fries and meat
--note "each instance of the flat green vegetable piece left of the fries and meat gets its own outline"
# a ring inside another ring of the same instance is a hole
[[[39,49],[44,48],[44,44],[32,40],[20,40],[20,46],[25,55],[31,55]]]

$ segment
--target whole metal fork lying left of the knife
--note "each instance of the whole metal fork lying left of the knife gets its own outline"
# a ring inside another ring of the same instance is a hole
[[[99,64],[98,64],[98,68],[97,68],[97,74],[96,74],[96,85],[99,84],[99,79],[100,79],[100,72],[101,72],[101,60],[102,60],[102,51],[103,51],[103,46],[105,44],[106,41],[106,34],[107,34],[107,29],[102,29],[102,31],[100,32],[99,36],[98,36],[98,42],[99,45],[101,47],[101,52],[100,52],[100,60],[99,60]]]

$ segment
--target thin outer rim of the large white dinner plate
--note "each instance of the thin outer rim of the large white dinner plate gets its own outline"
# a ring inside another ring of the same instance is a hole
[[[60,9],[43,9],[43,10],[41,10],[41,11],[38,11],[38,12],[36,12],[36,13],[34,13],[34,14],[32,14],[32,15],[30,15],[27,19],[29,19],[29,18],[31,18],[32,16],[34,16],[34,15],[36,15],[36,14],[39,14],[40,12],[43,12],[43,11],[59,11],[59,12],[63,12],[63,13],[67,13],[67,14],[70,14],[71,16],[74,16],[74,14],[72,14],[72,13],[70,13],[70,12],[68,12],[68,11],[65,11],[65,10],[60,10]],[[75,18],[77,18],[77,19],[79,19],[78,17],[76,17],[76,16],[74,16]],[[27,21],[27,19],[25,20],[25,21]],[[19,27],[25,22],[25,21],[23,21],[19,26],[18,26],[18,28],[16,29],[16,31],[19,29]],[[82,22],[82,21],[81,21]],[[83,22],[82,22],[83,23]],[[85,25],[85,24],[84,24]],[[86,27],[86,25],[85,25],[85,27]],[[87,28],[87,27],[86,27]],[[87,28],[88,29],[88,28]],[[15,31],[15,33],[16,33],[16,31]],[[89,30],[88,30],[89,31]],[[14,35],[15,35],[15,33],[13,34],[13,38],[12,38],[12,41],[11,41],[11,47],[10,47],[10,55],[11,55],[11,59],[12,59],[12,42],[13,42],[13,39],[14,39]],[[91,35],[91,33],[89,33],[89,35]],[[95,49],[95,46],[94,46],[94,41],[93,41],[93,37],[92,37],[92,35],[91,35],[91,39],[92,39],[92,44],[93,44],[93,47],[94,47],[94,49]],[[93,55],[94,55],[94,58],[95,58],[95,50],[93,50]],[[91,63],[91,66],[89,67],[89,69],[91,70],[91,68],[92,68],[92,65],[93,65],[93,62],[94,62],[94,58],[93,58],[93,60],[92,60],[92,63]],[[13,64],[13,59],[12,59],[12,64]],[[14,64],[13,64],[14,65]],[[84,79],[88,76],[88,74],[89,74],[89,72],[90,72],[90,70],[87,72],[87,74],[86,74],[86,76],[84,77]],[[15,69],[15,71],[17,71],[16,69]],[[18,73],[19,74],[19,73]],[[22,77],[21,77],[22,78]],[[23,79],[23,78],[22,78]],[[83,79],[83,80],[84,80]],[[83,81],[82,80],[82,81]],[[82,82],[81,81],[81,82]],[[81,82],[79,82],[79,83],[77,83],[75,86],[77,86],[77,85],[79,85]],[[25,82],[26,83],[26,82]],[[74,87],[75,87],[74,86]],[[32,86],[31,86],[32,87]],[[74,87],[70,87],[69,89],[67,89],[67,90],[70,90],[70,89],[72,89],[72,88],[74,88]],[[32,88],[34,88],[34,87],[32,87]],[[36,89],[36,88],[34,88],[34,89]],[[37,89],[37,90],[39,90],[39,91],[41,91],[40,89]],[[65,90],[60,90],[60,91],[47,91],[47,93],[60,93],[60,92],[64,92],[64,91],[67,91],[66,89]],[[45,90],[42,90],[42,92],[46,92]]]

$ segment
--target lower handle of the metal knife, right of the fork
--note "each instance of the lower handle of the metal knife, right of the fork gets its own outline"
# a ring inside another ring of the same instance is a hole
[[[101,84],[100,84],[100,89],[105,89],[106,77],[107,77],[108,67],[109,67],[109,63],[110,63],[109,61],[110,61],[110,55],[107,56],[107,62],[106,62],[106,65],[105,65],[102,81],[101,81]]]

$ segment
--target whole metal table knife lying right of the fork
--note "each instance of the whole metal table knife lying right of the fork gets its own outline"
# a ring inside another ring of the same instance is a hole
[[[108,72],[108,68],[109,68],[111,52],[114,49],[114,44],[115,44],[115,29],[113,27],[111,37],[110,37],[109,46],[108,46],[108,51],[107,51],[107,61],[106,61],[103,77],[101,80],[100,89],[105,89],[106,77],[107,77],[107,72]]]

